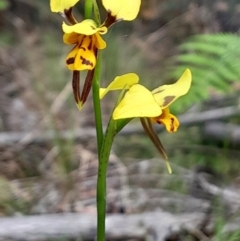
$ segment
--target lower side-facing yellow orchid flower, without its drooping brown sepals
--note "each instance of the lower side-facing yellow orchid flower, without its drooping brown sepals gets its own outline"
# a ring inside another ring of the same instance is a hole
[[[110,90],[128,89],[115,108],[113,119],[148,117],[154,123],[165,125],[168,132],[177,131],[179,121],[170,113],[169,105],[188,92],[192,80],[190,70],[187,69],[176,83],[160,86],[152,92],[138,84],[136,76],[132,73],[118,76],[107,88],[100,90],[100,98],[103,98]]]

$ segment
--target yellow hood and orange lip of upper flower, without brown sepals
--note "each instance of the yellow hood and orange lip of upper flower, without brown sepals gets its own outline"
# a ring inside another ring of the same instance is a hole
[[[107,32],[106,27],[97,27],[91,19],[86,19],[75,25],[63,23],[63,42],[74,44],[66,58],[67,67],[70,70],[94,69],[97,58],[97,50],[106,48],[106,42],[101,34]]]

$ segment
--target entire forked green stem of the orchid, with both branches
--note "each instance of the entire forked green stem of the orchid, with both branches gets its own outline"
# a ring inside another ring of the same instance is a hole
[[[85,1],[85,18],[92,16],[94,11],[95,21],[99,24],[100,15],[96,0]],[[98,145],[98,180],[97,180],[97,240],[105,241],[105,217],[106,217],[106,177],[108,168],[108,159],[111,152],[115,132],[115,122],[111,119],[106,130],[105,137],[103,136],[101,103],[99,99],[100,76],[101,76],[101,53],[96,53],[98,56],[93,76],[93,105],[97,132]]]

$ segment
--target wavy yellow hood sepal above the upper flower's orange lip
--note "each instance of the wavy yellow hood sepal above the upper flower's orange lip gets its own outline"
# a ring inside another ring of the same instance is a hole
[[[63,22],[62,29],[64,33],[78,33],[78,34],[84,34],[84,35],[93,35],[95,33],[105,34],[107,32],[106,27],[97,27],[97,24],[91,20],[86,19],[82,21],[81,23],[77,23],[74,25],[67,25]]]

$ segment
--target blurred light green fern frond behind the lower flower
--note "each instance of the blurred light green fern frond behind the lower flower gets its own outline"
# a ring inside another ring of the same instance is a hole
[[[228,93],[232,91],[231,83],[240,81],[240,36],[197,35],[180,45],[179,50],[180,54],[173,58],[175,67],[170,67],[168,77],[176,79],[186,68],[193,75],[190,93],[179,100],[181,106],[207,99],[210,89]]]

